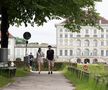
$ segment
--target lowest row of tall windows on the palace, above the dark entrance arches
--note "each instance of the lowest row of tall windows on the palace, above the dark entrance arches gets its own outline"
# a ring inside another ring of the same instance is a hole
[[[63,54],[64,52],[64,54]],[[81,53],[80,49],[76,50],[76,56],[97,56],[98,50],[94,49],[92,52],[89,49],[85,49],[83,53]],[[74,56],[73,50],[60,50],[60,56]],[[104,56],[104,50],[101,50],[101,56]],[[108,56],[108,50],[106,50],[106,56]]]

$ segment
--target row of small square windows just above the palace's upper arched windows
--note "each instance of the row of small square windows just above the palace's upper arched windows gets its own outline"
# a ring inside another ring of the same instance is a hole
[[[73,34],[65,34],[64,35],[65,38],[73,38],[75,36],[73,36]],[[81,35],[76,35],[76,37],[82,37]],[[84,37],[91,37],[90,35],[85,35]],[[93,37],[98,37],[98,35],[93,35]],[[63,38],[63,34],[60,34],[60,38]],[[101,38],[105,38],[105,35],[104,34],[101,34]],[[106,38],[108,38],[108,34],[106,34]]]

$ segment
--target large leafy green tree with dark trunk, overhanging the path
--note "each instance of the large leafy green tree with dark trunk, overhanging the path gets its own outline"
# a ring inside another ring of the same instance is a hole
[[[1,47],[8,47],[9,25],[42,25],[51,19],[68,18],[66,27],[74,31],[79,25],[96,26],[98,13],[95,1],[100,0],[0,0]],[[75,30],[77,31],[77,30]]]

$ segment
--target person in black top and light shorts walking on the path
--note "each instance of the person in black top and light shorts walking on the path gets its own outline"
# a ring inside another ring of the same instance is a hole
[[[52,46],[48,46],[46,58],[48,60],[48,74],[53,74],[53,67],[54,67],[54,50],[51,49]]]

